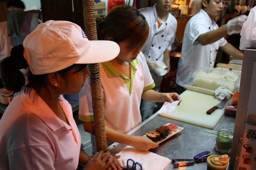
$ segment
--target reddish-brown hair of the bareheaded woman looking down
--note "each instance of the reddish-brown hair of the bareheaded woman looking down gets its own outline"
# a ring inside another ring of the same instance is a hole
[[[98,40],[112,37],[119,44],[128,41],[128,48],[139,50],[148,39],[149,27],[146,18],[129,5],[113,8],[106,17],[97,17]]]

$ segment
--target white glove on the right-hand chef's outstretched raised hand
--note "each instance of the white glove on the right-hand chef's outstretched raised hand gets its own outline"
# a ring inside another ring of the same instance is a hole
[[[227,34],[240,33],[247,17],[246,15],[240,15],[239,17],[230,19],[227,23]]]

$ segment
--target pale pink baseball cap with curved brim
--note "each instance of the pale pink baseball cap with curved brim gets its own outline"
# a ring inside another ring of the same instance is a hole
[[[69,21],[39,24],[23,41],[24,57],[34,75],[52,73],[73,64],[102,63],[120,52],[113,41],[89,41],[82,28]]]

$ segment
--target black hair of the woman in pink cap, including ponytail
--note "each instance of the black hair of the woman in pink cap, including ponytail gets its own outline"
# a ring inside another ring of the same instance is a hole
[[[12,48],[11,56],[4,58],[0,63],[0,72],[1,78],[3,80],[4,86],[6,89],[20,92],[21,89],[27,94],[30,95],[32,89],[38,93],[42,88],[47,89],[46,84],[48,81],[48,74],[34,75],[28,69],[27,73],[27,84],[24,74],[20,71],[20,69],[26,69],[28,67],[28,63],[23,56],[23,45],[15,46]],[[58,71],[61,77],[65,78],[69,71],[73,68],[78,69],[76,72],[83,70],[87,64],[73,64],[68,68]],[[51,94],[49,92],[49,96]]]

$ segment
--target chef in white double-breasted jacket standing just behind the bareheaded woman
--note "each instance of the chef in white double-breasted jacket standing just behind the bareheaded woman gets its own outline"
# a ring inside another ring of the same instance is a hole
[[[141,49],[155,82],[153,90],[160,91],[163,75],[156,70],[156,61],[166,64],[166,70],[170,70],[170,51],[174,43],[177,30],[177,20],[169,13],[173,0],[156,0],[152,7],[140,9],[140,13],[146,17],[149,25],[148,40]],[[140,112],[142,121],[153,115],[155,102],[141,100]]]

